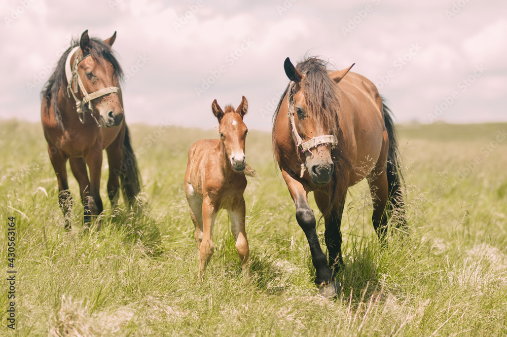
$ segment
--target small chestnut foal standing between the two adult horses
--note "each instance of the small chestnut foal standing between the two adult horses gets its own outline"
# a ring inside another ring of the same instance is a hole
[[[199,250],[199,279],[213,255],[212,229],[220,209],[227,209],[231,218],[231,232],[236,242],[241,267],[249,273],[248,240],[245,232],[246,175],[255,171],[246,165],[245,140],[248,132],[243,123],[248,103],[245,96],[236,110],[231,105],[225,111],[211,104],[213,115],[219,120],[220,139],[203,139],[189,151],[185,192],[190,216],[195,225],[195,240]]]

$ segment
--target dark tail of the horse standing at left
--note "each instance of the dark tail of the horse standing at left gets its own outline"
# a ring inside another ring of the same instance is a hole
[[[132,206],[135,197],[141,191],[141,177],[137,169],[137,160],[132,149],[127,125],[125,125],[125,138],[123,138],[123,164],[122,174],[120,174],[123,199],[129,206]]]

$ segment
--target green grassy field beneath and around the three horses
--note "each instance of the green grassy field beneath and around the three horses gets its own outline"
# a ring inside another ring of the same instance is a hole
[[[106,209],[101,232],[84,234],[79,201],[73,229],[63,229],[41,126],[0,124],[0,256],[7,266],[7,222],[15,216],[17,271],[16,330],[7,328],[4,281],[0,335],[507,335],[507,125],[400,127],[410,235],[380,249],[368,186],[350,189],[335,301],[317,294],[269,133],[247,137],[247,160],[260,175],[245,193],[252,278],[240,274],[222,211],[198,284],[183,177],[190,145],[218,131],[130,129],[134,149],[144,149],[138,164],[147,211],[136,218]],[[109,208],[106,164],[102,177]],[[317,231],[323,241],[323,223]]]

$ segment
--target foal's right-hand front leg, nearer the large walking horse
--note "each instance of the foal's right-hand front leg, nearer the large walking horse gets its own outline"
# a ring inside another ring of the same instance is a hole
[[[236,242],[236,249],[238,250],[239,259],[241,260],[241,268],[243,273],[250,274],[248,268],[248,259],[250,256],[250,250],[248,248],[248,239],[246,238],[245,231],[245,199],[241,196],[241,199],[237,203],[234,203],[227,209],[229,217],[231,218],[231,232],[234,236],[234,242]]]

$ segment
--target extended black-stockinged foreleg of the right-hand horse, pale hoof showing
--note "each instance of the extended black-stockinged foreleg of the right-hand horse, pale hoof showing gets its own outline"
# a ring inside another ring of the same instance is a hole
[[[334,296],[336,294],[336,290],[333,290],[334,285],[331,284],[333,281],[333,273],[328,266],[328,258],[320,248],[317,231],[315,229],[315,215],[308,205],[308,192],[305,190],[301,182],[293,178],[283,168],[282,176],[287,184],[289,192],[291,193],[292,199],[296,204],[296,220],[303,232],[305,232],[308,245],[310,246],[312,263],[316,271],[315,284],[319,288],[319,292],[324,296]],[[331,289],[328,289],[329,286],[332,286]]]

